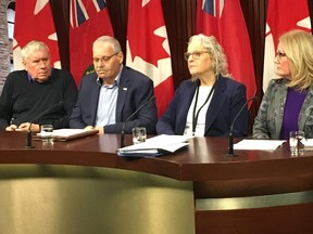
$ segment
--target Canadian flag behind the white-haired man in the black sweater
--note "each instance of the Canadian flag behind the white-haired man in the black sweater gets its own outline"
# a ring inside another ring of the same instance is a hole
[[[21,49],[30,40],[45,42],[50,49],[50,60],[61,68],[58,36],[49,0],[18,0],[15,3],[13,32],[14,69],[23,69]]]

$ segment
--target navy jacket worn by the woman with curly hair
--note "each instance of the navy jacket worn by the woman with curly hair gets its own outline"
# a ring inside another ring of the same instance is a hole
[[[156,123],[158,134],[184,134],[187,114],[199,80],[185,80],[175,92],[165,114]],[[227,136],[234,118],[246,104],[246,87],[233,79],[218,77],[205,117],[205,136]],[[248,132],[248,108],[234,123],[234,135]]]

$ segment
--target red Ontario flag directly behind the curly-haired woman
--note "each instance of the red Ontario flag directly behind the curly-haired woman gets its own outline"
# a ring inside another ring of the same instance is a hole
[[[250,38],[239,0],[198,0],[197,34],[214,36],[227,56],[235,80],[247,88],[247,99],[256,93]]]

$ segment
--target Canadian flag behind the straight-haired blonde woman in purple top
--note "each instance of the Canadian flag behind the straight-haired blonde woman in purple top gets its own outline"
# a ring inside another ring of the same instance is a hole
[[[277,78],[274,60],[279,36],[297,28],[311,32],[308,0],[268,0],[263,68],[264,92],[268,81]]]

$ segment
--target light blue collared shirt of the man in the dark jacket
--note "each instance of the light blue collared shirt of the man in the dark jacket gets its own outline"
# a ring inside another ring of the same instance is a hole
[[[98,77],[97,79],[97,83],[101,86],[101,89],[99,93],[96,126],[107,126],[116,122],[115,113],[117,105],[120,77],[121,72],[116,76],[114,83],[110,86],[102,83],[101,78]]]

